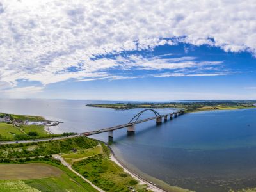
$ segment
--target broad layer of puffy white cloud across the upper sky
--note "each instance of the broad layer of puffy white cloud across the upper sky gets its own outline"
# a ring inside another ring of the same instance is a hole
[[[256,49],[254,0],[0,1],[0,81],[9,86],[17,84],[17,79],[49,84],[105,78],[113,74],[102,70],[115,67],[160,70],[205,65],[193,58],[180,58],[179,64],[138,56],[127,63],[127,58],[90,59],[177,42],[253,54]]]

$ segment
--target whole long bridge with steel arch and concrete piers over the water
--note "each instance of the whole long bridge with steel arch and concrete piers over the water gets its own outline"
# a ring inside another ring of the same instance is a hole
[[[139,120],[140,116],[145,112],[145,111],[152,111],[154,113],[155,116],[150,117],[150,118],[145,118],[143,120]],[[122,124],[122,125],[116,125],[114,127],[108,127],[105,129],[99,129],[97,131],[90,131],[90,132],[84,132],[83,134],[85,136],[90,136],[93,134],[100,134],[102,132],[108,132],[108,136],[109,138],[113,138],[113,131],[116,129],[122,129],[127,127],[127,132],[128,133],[134,133],[135,132],[135,125],[136,124],[141,124],[143,122],[147,122],[150,120],[154,120],[156,119],[156,123],[157,124],[161,124],[163,122],[163,118],[164,121],[168,120],[168,117],[170,120],[172,120],[172,118],[176,118],[177,116],[183,115],[184,114],[184,110],[179,110],[179,111],[175,111],[172,113],[168,113],[165,115],[160,115],[157,111],[155,111],[154,109],[145,109],[143,111],[141,111],[140,113],[138,113],[137,115],[135,115],[127,124]]]

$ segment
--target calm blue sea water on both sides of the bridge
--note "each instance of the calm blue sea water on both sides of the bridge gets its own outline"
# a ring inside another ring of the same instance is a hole
[[[41,115],[64,123],[52,132],[86,132],[125,124],[142,109],[86,107],[83,100],[0,99],[0,111]],[[156,109],[169,113],[173,109]],[[154,114],[147,112],[141,118]],[[172,186],[194,191],[256,187],[256,109],[208,111],[179,116],[156,126],[136,125],[136,134],[114,132],[112,147],[122,161]],[[250,126],[248,126],[250,125]],[[108,134],[96,138],[108,141]]]

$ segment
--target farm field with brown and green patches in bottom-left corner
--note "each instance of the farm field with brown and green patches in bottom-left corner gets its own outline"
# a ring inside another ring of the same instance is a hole
[[[0,164],[0,169],[0,191],[95,191],[80,178],[75,180],[74,173],[50,164]]]

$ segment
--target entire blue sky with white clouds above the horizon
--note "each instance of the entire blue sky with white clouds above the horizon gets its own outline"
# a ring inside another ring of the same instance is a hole
[[[0,0],[0,97],[256,100],[256,1]]]

